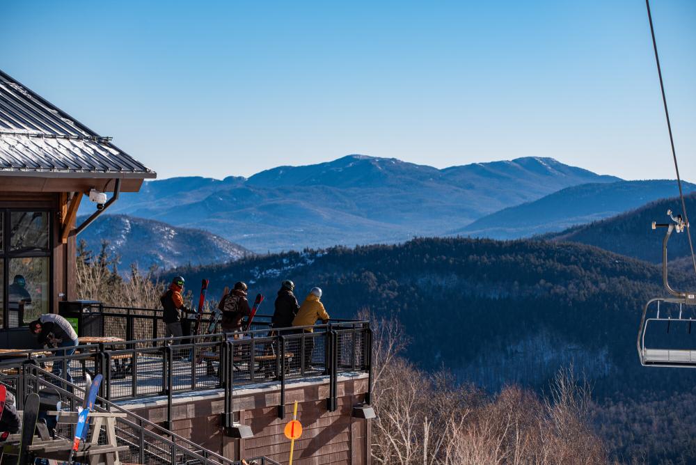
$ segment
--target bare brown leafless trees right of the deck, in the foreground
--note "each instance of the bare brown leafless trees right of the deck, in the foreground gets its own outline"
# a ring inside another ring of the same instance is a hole
[[[448,370],[423,372],[400,356],[395,320],[373,320],[372,457],[379,464],[608,464],[590,423],[587,384],[560,370],[541,398],[518,386],[489,395]]]

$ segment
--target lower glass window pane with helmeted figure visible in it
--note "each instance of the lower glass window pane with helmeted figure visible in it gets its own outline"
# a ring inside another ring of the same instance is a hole
[[[10,258],[9,269],[8,326],[28,324],[49,313],[49,258]]]

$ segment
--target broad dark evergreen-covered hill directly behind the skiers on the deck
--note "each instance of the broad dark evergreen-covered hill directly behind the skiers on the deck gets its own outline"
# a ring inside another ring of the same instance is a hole
[[[691,386],[692,373],[640,368],[635,335],[644,301],[661,294],[660,269],[590,246],[474,239],[414,239],[398,246],[285,253],[229,265],[180,268],[209,295],[247,281],[274,297],[290,278],[302,299],[313,285],[334,317],[395,314],[412,340],[409,358],[441,364],[491,389],[545,386],[574,363],[596,393]],[[688,275],[675,274],[675,286]],[[271,305],[262,312],[272,310]]]

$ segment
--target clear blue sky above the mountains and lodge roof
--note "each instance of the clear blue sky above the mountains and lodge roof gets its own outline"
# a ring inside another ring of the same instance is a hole
[[[696,181],[696,1],[653,2]],[[641,0],[11,1],[0,68],[160,178],[350,153],[674,176]]]

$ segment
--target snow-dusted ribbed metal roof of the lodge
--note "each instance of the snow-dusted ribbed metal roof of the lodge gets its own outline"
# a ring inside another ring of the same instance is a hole
[[[110,140],[0,71],[0,176],[157,177]]]

